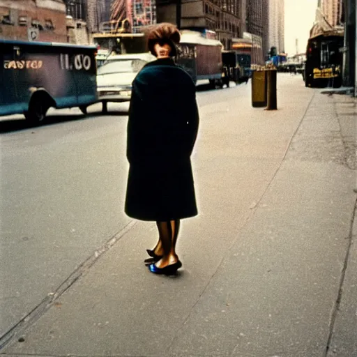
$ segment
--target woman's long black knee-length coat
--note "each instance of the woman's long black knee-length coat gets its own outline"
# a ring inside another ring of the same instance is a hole
[[[148,63],[132,83],[127,215],[152,221],[197,215],[190,155],[198,123],[190,75],[172,59]]]

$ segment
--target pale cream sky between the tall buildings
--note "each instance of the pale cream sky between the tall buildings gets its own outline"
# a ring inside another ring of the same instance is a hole
[[[314,24],[317,0],[285,0],[285,52],[288,56],[305,52],[310,29]]]

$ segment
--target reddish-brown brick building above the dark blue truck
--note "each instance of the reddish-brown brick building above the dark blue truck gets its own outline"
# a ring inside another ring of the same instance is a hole
[[[64,42],[66,5],[62,0],[0,0],[0,38],[28,40],[28,30],[37,29],[38,41]]]

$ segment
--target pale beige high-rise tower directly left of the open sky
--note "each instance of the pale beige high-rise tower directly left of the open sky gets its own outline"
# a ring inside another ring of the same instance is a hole
[[[268,14],[268,48],[284,52],[284,0],[269,0]]]

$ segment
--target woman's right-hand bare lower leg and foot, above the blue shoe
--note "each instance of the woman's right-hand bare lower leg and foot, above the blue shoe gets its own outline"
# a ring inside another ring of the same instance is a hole
[[[155,266],[158,268],[165,268],[165,266],[174,264],[179,260],[175,248],[177,236],[179,235],[180,221],[172,220],[156,223],[158,225],[163,257],[155,264]]]

